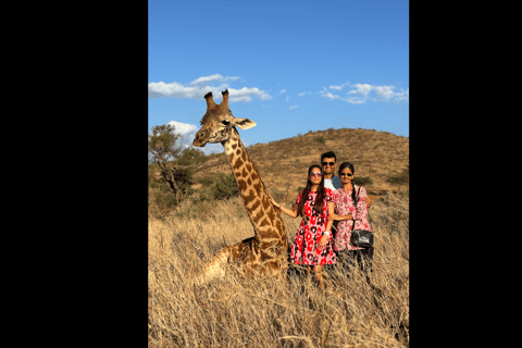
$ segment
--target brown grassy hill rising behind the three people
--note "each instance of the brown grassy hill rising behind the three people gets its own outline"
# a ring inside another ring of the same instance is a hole
[[[238,132],[240,136],[241,129]],[[374,129],[330,128],[256,144],[247,149],[269,192],[286,202],[296,199],[297,189],[306,185],[308,167],[319,164],[321,153],[326,151],[335,152],[338,164],[351,162],[356,176],[372,178],[373,185],[365,185],[372,198],[386,190],[397,190],[397,186],[386,179],[400,174],[409,164],[409,138]],[[211,154],[194,179],[197,182],[216,172],[232,173],[224,153]],[[199,186],[194,185],[195,188]],[[401,186],[400,190],[406,188]]]

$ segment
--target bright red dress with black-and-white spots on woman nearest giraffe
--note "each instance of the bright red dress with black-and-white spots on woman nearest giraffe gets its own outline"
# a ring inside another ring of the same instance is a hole
[[[302,191],[299,194],[299,197],[297,197],[296,204],[299,203]],[[326,246],[322,249],[319,248],[320,252],[318,253],[319,241],[328,222],[327,202],[333,201],[333,191],[330,188],[325,188],[323,213],[321,215],[313,209],[316,196],[318,192],[314,191],[308,195],[303,207],[306,217],[302,219],[299,229],[297,231],[296,240],[291,245],[290,258],[291,261],[297,264],[335,264],[335,253],[332,249],[332,235],[330,235]]]

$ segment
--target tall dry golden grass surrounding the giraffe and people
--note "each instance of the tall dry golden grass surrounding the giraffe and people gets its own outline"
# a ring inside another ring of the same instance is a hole
[[[306,276],[189,279],[217,250],[253,235],[239,197],[190,217],[190,200],[163,221],[149,217],[149,347],[408,347],[409,199],[388,192],[370,210],[376,235],[376,297],[353,271],[332,290]],[[283,214],[289,243],[299,219]]]

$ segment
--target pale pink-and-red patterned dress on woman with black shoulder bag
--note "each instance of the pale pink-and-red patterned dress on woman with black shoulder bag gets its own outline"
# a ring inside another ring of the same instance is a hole
[[[353,201],[351,199],[351,190],[346,194],[345,190],[341,188],[336,189],[334,191],[334,202],[335,202],[335,213],[337,215],[348,215],[351,214],[356,220],[356,229],[364,229],[364,231],[372,231],[372,226],[370,225],[370,221],[368,217],[368,209],[366,202],[364,201],[364,197],[366,197],[366,189],[362,186],[353,185],[356,188],[356,194],[359,191],[359,201],[356,206],[353,206]],[[359,187],[361,188],[359,190]],[[351,231],[353,226],[353,220],[343,220],[339,221],[337,224],[337,232],[335,232],[334,238],[334,250],[357,250],[362,249],[358,247],[353,247],[350,245],[350,237]],[[333,229],[333,228],[332,228]]]

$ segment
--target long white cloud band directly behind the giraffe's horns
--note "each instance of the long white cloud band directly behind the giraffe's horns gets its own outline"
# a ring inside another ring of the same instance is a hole
[[[260,90],[257,87],[247,88],[243,87],[241,89],[231,88],[228,84],[222,83],[219,86],[210,86],[208,84],[215,82],[228,82],[237,80],[239,77],[225,76],[223,77],[220,74],[211,76],[201,76],[191,83],[188,86],[184,86],[179,83],[173,82],[171,84],[165,84],[164,82],[150,83],[149,84],[149,98],[188,98],[188,99],[202,99],[204,95],[209,91],[212,92],[214,101],[219,102],[222,98],[221,91],[228,89],[228,98],[232,102],[239,101],[251,101],[252,97],[256,97],[259,100],[272,99],[272,97],[266,94],[264,90]]]

